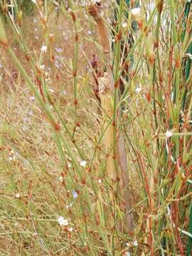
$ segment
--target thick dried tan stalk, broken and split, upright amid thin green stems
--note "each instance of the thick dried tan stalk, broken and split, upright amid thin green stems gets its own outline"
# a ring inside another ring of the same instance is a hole
[[[107,27],[105,26],[105,22],[103,21],[102,16],[100,16],[101,8],[102,8],[101,4],[97,3],[95,4],[95,6],[90,6],[89,11],[90,11],[90,15],[92,15],[92,17],[95,19],[97,23],[97,30],[100,36],[100,43],[102,44],[102,51],[106,57],[106,63],[107,63],[107,73],[105,73],[103,78],[99,79],[102,115],[105,121],[105,129],[106,129],[105,135],[104,135],[104,142],[105,142],[105,149],[109,153],[109,157],[107,159],[107,174],[113,180],[117,180],[117,173],[114,166],[114,159],[110,154],[114,139],[116,139],[117,149],[118,149],[118,161],[119,161],[119,166],[122,174],[122,183],[124,186],[125,205],[126,205],[126,210],[129,211],[132,208],[132,204],[131,204],[131,193],[129,191],[129,176],[127,172],[127,156],[125,151],[124,136],[121,132],[119,132],[119,135],[117,134],[117,138],[114,138],[114,127],[112,126],[112,123],[109,124],[109,122],[106,122],[107,119],[110,120],[110,118],[112,118],[112,113],[113,113],[110,96],[114,92],[114,80],[113,80],[112,69],[110,65],[111,48],[110,48],[109,32],[107,30]],[[106,127],[106,125],[108,125],[108,127]],[[132,228],[133,228],[132,214],[129,214],[127,215],[126,230],[130,231],[132,230]]]

